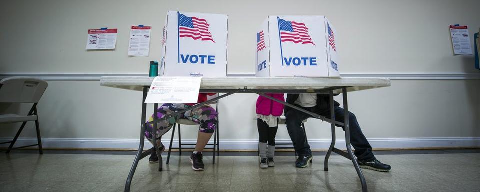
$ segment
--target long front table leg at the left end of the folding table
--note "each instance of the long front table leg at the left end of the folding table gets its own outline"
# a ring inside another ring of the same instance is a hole
[[[143,87],[143,99],[141,102],[141,128],[140,128],[140,146],[138,147],[138,152],[136,153],[135,160],[131,165],[130,173],[128,174],[128,178],[126,179],[125,183],[125,192],[130,191],[131,180],[133,179],[133,175],[135,174],[136,166],[141,159],[141,153],[143,152],[143,146],[145,144],[145,118],[146,118],[146,94],[148,93],[148,87]]]

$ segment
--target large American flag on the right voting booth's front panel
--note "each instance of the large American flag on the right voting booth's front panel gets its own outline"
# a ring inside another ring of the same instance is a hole
[[[291,41],[296,43],[308,44],[313,43],[310,35],[308,35],[308,27],[301,22],[286,21],[279,19],[280,39],[282,42]]]

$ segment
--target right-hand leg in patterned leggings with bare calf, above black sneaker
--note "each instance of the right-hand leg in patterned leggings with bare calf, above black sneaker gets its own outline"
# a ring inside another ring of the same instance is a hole
[[[186,113],[184,117],[200,124],[195,151],[202,152],[215,132],[216,123],[218,121],[215,109],[209,105],[204,105]]]

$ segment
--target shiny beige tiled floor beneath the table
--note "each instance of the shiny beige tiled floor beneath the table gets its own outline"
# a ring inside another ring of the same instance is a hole
[[[480,153],[388,154],[387,173],[363,170],[369,191],[480,191]],[[134,155],[0,154],[0,191],[123,191]],[[164,158],[166,159],[166,157]],[[172,156],[164,171],[140,161],[132,191],[361,191],[351,161],[314,156],[295,168],[293,156],[277,156],[276,166],[258,168],[256,156],[220,156],[205,171],[191,169],[188,156]]]

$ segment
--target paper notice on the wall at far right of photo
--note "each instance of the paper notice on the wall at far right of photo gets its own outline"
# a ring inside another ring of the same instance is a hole
[[[472,54],[470,35],[466,25],[450,25],[454,54]]]

